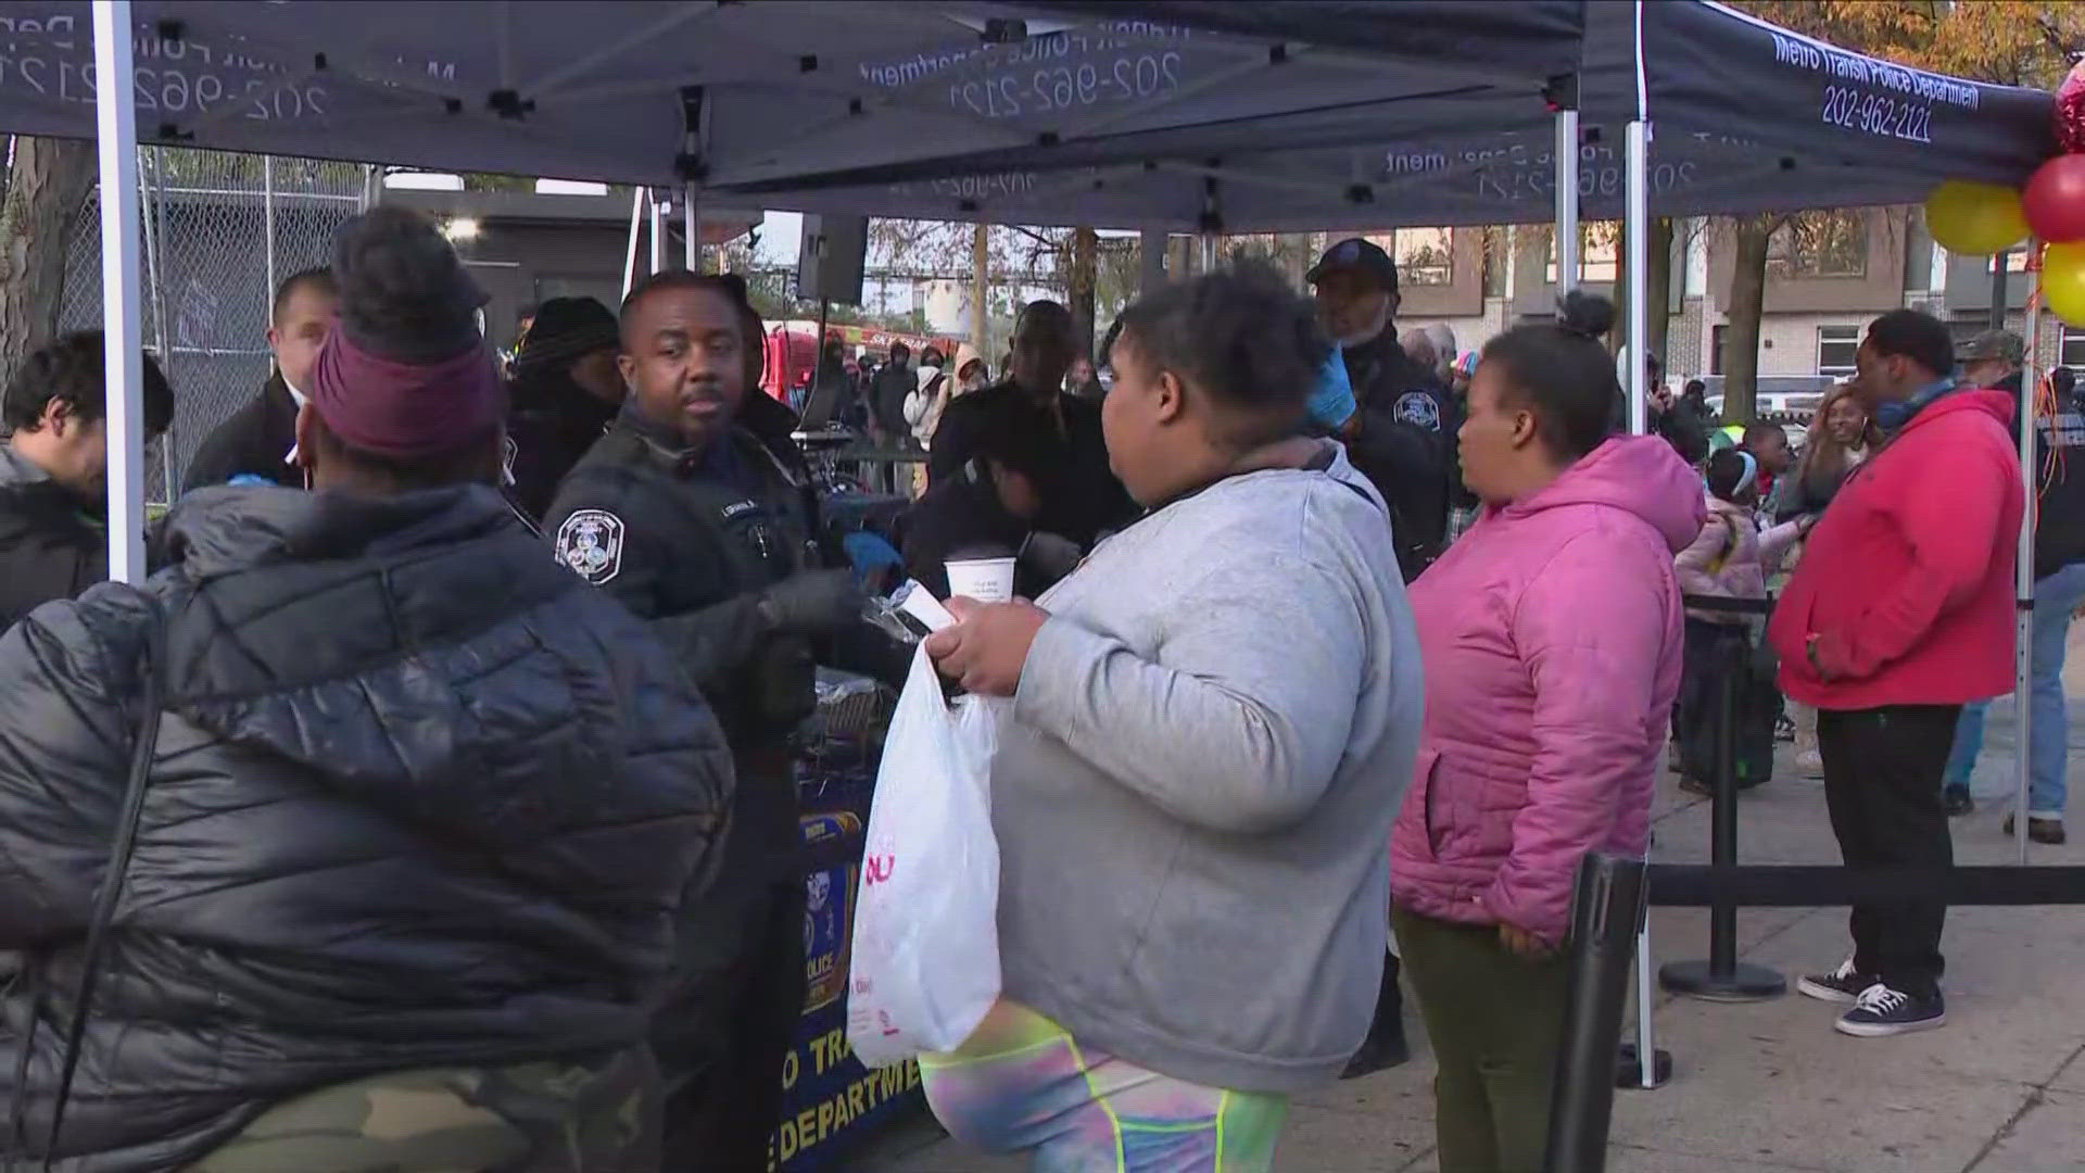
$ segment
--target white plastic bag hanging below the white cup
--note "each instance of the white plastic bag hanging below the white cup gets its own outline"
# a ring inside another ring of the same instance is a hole
[[[855,897],[847,1042],[867,1067],[959,1048],[999,1000],[997,708],[951,705],[926,649],[913,655]]]

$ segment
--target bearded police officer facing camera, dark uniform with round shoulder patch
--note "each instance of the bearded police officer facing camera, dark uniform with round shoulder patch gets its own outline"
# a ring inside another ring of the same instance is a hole
[[[851,572],[819,568],[794,417],[751,392],[757,321],[736,278],[638,284],[621,311],[630,399],[544,518],[557,557],[676,649],[738,766],[717,910],[686,927],[686,981],[653,1033],[667,1167],[719,1173],[767,1167],[805,998],[788,735],[815,705],[813,641],[861,618]]]

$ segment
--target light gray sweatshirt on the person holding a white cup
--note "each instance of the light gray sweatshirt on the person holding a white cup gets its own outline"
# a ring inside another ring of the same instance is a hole
[[[1382,975],[1424,687],[1382,499],[1330,451],[1045,595],[992,764],[1005,996],[1209,1087],[1336,1079]]]

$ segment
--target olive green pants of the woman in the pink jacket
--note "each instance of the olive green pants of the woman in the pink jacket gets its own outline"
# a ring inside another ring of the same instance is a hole
[[[1405,979],[1432,1039],[1441,1173],[1539,1173],[1570,968],[1526,960],[1497,927],[1393,908]]]

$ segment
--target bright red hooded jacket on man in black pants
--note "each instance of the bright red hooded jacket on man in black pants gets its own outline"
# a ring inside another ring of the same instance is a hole
[[[1768,628],[1791,699],[1870,710],[2012,689],[2027,493],[2010,420],[2004,390],[1945,394],[1847,478]]]

